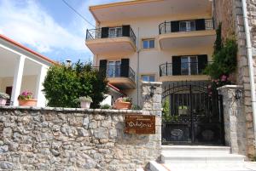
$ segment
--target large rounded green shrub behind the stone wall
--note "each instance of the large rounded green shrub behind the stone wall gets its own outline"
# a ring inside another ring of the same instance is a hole
[[[99,107],[108,92],[107,80],[91,63],[51,66],[44,80],[44,94],[52,107],[79,107],[79,97],[90,96],[92,108]]]

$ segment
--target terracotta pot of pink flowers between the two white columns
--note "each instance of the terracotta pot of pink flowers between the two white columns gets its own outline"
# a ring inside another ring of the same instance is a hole
[[[21,106],[36,106],[38,100],[33,99],[33,94],[29,91],[24,91],[18,97],[19,105]]]

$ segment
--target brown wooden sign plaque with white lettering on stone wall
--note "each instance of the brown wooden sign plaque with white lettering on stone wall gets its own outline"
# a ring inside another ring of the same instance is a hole
[[[125,115],[125,134],[155,134],[155,116]]]

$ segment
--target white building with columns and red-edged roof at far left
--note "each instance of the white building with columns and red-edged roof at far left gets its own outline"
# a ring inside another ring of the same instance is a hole
[[[0,34],[0,92],[10,95],[8,105],[19,105],[18,96],[30,91],[44,107],[46,99],[42,92],[44,77],[55,61],[16,43]]]

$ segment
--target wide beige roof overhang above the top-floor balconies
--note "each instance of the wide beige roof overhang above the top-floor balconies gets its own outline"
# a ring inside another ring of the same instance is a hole
[[[211,0],[134,0],[90,6],[97,22],[132,20],[165,15],[212,16]],[[160,9],[160,10],[159,10]],[[150,13],[149,13],[150,11]]]

